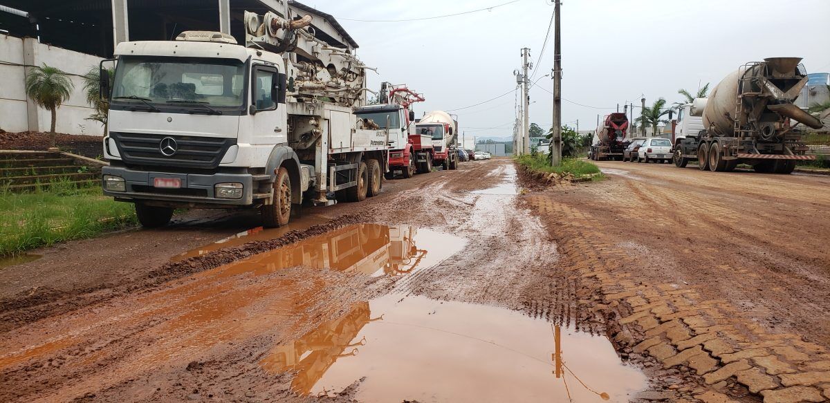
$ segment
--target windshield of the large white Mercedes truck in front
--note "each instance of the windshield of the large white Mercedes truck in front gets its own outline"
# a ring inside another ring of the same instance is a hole
[[[210,104],[240,108],[245,64],[203,58],[124,57],[115,70],[115,102]]]

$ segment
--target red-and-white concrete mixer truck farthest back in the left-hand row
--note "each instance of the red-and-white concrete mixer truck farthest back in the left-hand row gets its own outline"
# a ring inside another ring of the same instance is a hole
[[[444,169],[458,168],[458,121],[442,110],[429,112],[415,124],[418,135],[432,136],[432,161],[418,159],[421,169],[432,169],[433,164],[442,165]]]

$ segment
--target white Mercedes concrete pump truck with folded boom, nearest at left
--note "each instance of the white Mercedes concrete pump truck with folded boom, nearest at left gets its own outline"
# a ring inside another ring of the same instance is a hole
[[[300,13],[246,12],[244,46],[219,32],[116,46],[112,84],[100,82],[105,195],[157,227],[174,209],[206,207],[258,208],[263,226],[282,226],[301,203],[378,194],[388,129],[354,114],[369,67],[354,41],[323,31],[333,18]]]

